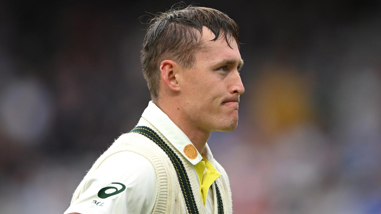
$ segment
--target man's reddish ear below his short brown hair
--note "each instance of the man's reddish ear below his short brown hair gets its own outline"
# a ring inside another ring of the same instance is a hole
[[[164,84],[171,91],[179,91],[180,86],[177,79],[179,66],[172,60],[164,60],[160,64],[160,73]]]

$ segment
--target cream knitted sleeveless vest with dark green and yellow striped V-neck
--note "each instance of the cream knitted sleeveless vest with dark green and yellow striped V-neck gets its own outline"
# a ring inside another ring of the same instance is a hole
[[[147,158],[154,166],[157,177],[157,196],[152,213],[157,214],[206,214],[200,195],[198,178],[193,165],[178,152],[168,140],[148,121],[130,133],[120,136],[109,149],[95,161],[75,190],[72,203],[78,199],[88,176],[107,157],[117,152],[131,151]],[[212,184],[215,214],[232,213],[229,179],[222,166],[215,161],[221,176]]]

